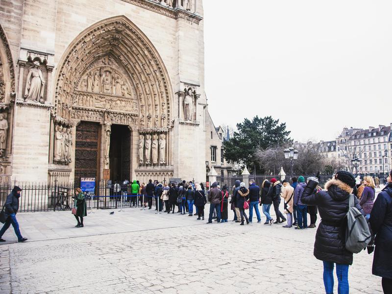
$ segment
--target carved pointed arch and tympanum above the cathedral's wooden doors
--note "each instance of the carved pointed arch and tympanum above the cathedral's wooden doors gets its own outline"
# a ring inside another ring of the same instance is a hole
[[[168,74],[147,37],[125,17],[111,18],[85,30],[60,64],[55,121],[67,123],[71,118],[81,119],[80,114],[98,121],[100,108],[122,112],[117,117],[113,114],[111,123],[170,127]]]

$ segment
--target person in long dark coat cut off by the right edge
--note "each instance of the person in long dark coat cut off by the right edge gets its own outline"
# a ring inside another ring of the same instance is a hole
[[[384,293],[392,293],[392,171],[374,202],[370,225],[376,234],[372,273],[382,277]]]

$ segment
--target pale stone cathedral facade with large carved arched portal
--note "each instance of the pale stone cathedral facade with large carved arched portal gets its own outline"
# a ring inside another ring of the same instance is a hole
[[[205,181],[201,0],[0,3],[2,182]]]

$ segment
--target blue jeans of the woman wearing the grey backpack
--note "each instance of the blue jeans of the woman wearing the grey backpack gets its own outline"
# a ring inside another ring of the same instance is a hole
[[[334,263],[323,261],[324,265],[324,287],[326,294],[334,293]],[[336,264],[336,275],[338,276],[338,294],[348,294],[348,265]]]

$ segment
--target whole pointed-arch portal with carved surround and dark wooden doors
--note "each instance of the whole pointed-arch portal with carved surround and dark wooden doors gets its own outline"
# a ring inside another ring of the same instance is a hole
[[[76,181],[94,173],[102,179],[105,170],[117,180],[137,169],[167,171],[171,84],[136,25],[123,16],[92,25],[58,69],[49,163],[70,167]]]

